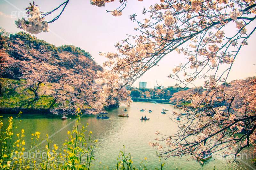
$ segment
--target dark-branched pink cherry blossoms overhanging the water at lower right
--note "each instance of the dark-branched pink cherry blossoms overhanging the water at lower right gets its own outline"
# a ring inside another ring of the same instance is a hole
[[[244,148],[254,148],[255,83],[255,78],[233,81],[230,83],[233,87],[213,87],[206,83],[203,93],[190,93],[186,96],[193,108],[191,116],[183,116],[183,120],[178,123],[177,133],[172,136],[163,135],[162,141],[165,143],[149,142],[149,145],[157,147],[166,158],[191,155],[193,159],[200,159],[205,151],[223,150],[224,157],[234,154],[236,160]],[[173,115],[182,116],[176,111],[173,111]]]

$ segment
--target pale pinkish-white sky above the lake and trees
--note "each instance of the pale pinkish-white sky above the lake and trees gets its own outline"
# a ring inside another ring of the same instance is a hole
[[[65,0],[38,0],[35,4],[38,4],[40,11],[51,11],[57,6],[62,4]],[[15,20],[18,18],[27,18],[25,8],[29,6],[28,0],[0,0],[0,26],[11,33],[16,33],[20,30],[15,25]],[[143,7],[148,9],[150,5],[158,0],[144,0],[139,2],[137,0],[129,0],[126,8],[123,11],[123,16],[114,17],[110,13],[106,13],[106,10],[113,10],[119,2],[106,3],[105,7],[97,7],[90,4],[89,0],[70,0],[66,9],[60,18],[54,23],[49,24],[49,33],[40,33],[35,35],[38,39],[44,40],[48,43],[56,46],[65,44],[72,44],[76,47],[80,47],[89,52],[94,60],[102,65],[106,58],[99,55],[99,52],[116,52],[114,45],[116,42],[120,42],[127,38],[126,34],[138,34],[134,31],[135,27],[138,27],[135,22],[129,19],[129,16],[136,13],[137,19],[142,21],[145,18],[142,15]],[[54,13],[56,16],[57,13]],[[51,18],[46,18],[46,21]],[[253,21],[256,25],[256,21]],[[254,25],[254,26],[255,26]],[[244,46],[236,57],[236,61],[233,64],[232,70],[229,74],[228,81],[233,79],[244,79],[246,77],[252,77],[256,74],[256,57],[255,57],[255,39],[256,33],[248,40],[249,45]],[[184,56],[175,52],[166,55],[160,62],[159,66],[152,68],[146,72],[140,80],[135,82],[132,86],[139,86],[139,81],[146,81],[148,88],[153,88],[156,85],[156,81],[162,85],[172,86],[175,82],[167,78],[172,73],[172,69],[175,65],[179,65],[180,58]],[[204,80],[194,81],[194,85],[202,85]],[[190,85],[192,87],[193,85]]]

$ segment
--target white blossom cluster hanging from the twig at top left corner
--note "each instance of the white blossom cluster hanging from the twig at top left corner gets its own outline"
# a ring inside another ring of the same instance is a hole
[[[49,26],[47,21],[43,21],[39,7],[33,6],[26,12],[28,14],[28,20],[25,18],[18,19],[15,24],[18,28],[27,31],[28,33],[38,34],[41,32],[49,32]]]

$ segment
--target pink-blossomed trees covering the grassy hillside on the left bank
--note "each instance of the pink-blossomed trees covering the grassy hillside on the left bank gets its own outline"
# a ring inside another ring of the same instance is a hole
[[[94,107],[99,93],[93,89],[94,80],[97,72],[103,70],[89,53],[80,48],[69,52],[63,47],[59,52],[59,48],[26,33],[11,35],[6,44],[8,48],[1,49],[0,53],[3,58],[0,76],[22,79],[19,81],[22,90],[15,90],[20,93],[20,98],[13,107],[43,108],[53,113],[71,114],[77,108],[85,111]],[[10,85],[10,89],[19,84]],[[117,101],[112,97],[105,106]],[[90,113],[96,112],[94,109]]]

